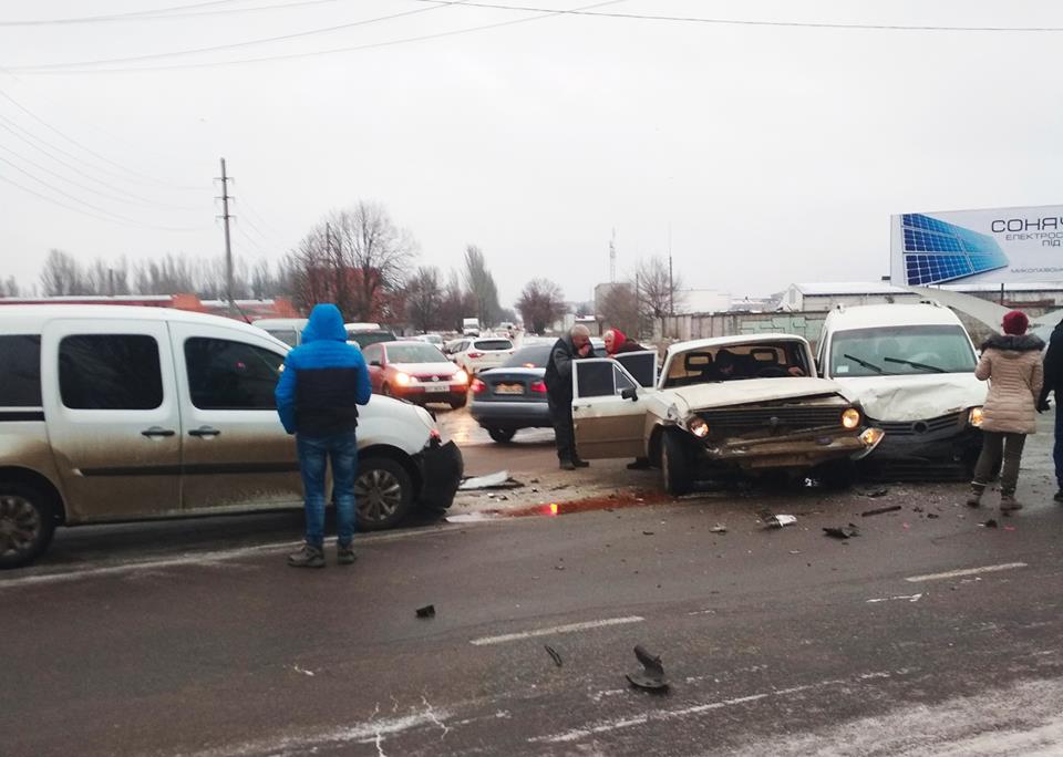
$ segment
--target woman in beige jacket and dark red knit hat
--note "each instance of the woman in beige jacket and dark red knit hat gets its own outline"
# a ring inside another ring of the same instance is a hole
[[[1022,507],[1015,501],[1019,460],[1026,434],[1036,432],[1036,405],[1044,382],[1041,350],[1044,342],[1026,334],[1029,319],[1012,310],[1001,324],[1004,333],[990,336],[982,345],[982,356],[974,375],[989,381],[989,394],[982,408],[982,453],[974,466],[971,496],[967,504],[978,507],[992,471],[1003,456],[1000,474],[1000,510],[1010,512]]]

